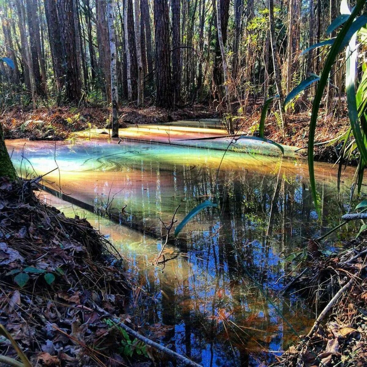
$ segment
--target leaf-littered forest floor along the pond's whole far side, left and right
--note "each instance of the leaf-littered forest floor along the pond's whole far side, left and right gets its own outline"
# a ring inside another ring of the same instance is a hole
[[[237,110],[233,105],[233,110]],[[341,141],[334,141],[348,130],[348,115],[345,103],[341,104],[340,113],[323,116],[317,120],[315,159],[335,162],[342,146]],[[236,118],[237,126],[247,134],[256,134],[259,128],[261,103],[251,103],[245,112]],[[54,107],[23,111],[16,108],[6,110],[0,116],[6,139],[27,138],[30,140],[66,140],[73,139],[73,132],[88,128],[108,127],[110,110],[93,107]],[[160,124],[175,120],[218,118],[215,108],[194,105],[189,108],[166,110],[156,107],[124,107],[120,110],[120,126],[128,124]],[[306,147],[310,120],[310,106],[303,105],[297,112],[287,113],[287,134],[283,135],[279,116],[270,110],[265,122],[265,137],[284,145]],[[330,142],[331,141],[331,142]],[[326,143],[325,143],[326,142]]]

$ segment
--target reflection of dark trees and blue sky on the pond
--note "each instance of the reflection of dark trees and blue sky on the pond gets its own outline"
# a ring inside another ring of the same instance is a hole
[[[172,186],[186,212],[203,197],[214,195],[214,173],[206,168],[184,170],[182,177],[174,178]],[[304,238],[320,230],[320,224],[315,220],[308,186],[297,177],[280,175],[277,179],[276,175],[225,171],[215,189],[219,211],[200,213],[187,229],[188,247],[182,251],[189,253],[192,271],[182,267],[183,280],[175,289],[160,281],[159,287],[168,296],[161,303],[161,321],[182,326],[175,336],[168,337],[175,338],[175,344],[188,356],[195,358],[209,343],[212,361],[221,353],[230,361],[230,340],[237,363],[256,366],[264,358],[263,351],[270,349],[270,342],[286,348],[294,332],[254,287],[237,257],[241,256],[247,271],[273,299],[281,287],[275,281],[291,270],[290,264],[277,256],[302,246]],[[340,212],[333,190],[323,185],[324,224],[330,214]],[[184,307],[179,306],[181,301],[185,301]],[[308,320],[299,306],[291,306],[284,298],[276,303],[297,331],[303,330]],[[221,313],[228,313],[228,320],[221,320]]]

